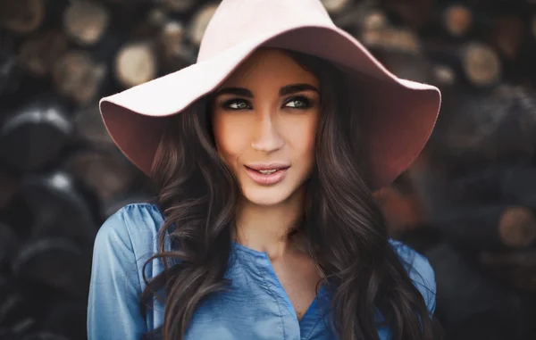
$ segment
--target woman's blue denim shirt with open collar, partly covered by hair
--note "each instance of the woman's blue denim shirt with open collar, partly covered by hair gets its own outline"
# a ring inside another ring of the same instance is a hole
[[[163,324],[163,304],[142,315],[139,294],[143,265],[156,251],[163,224],[158,208],[129,204],[105,221],[96,236],[88,300],[88,340],[134,340]],[[390,240],[432,313],[435,279],[428,261]],[[226,277],[231,289],[207,298],[194,313],[186,340],[335,340],[329,326],[329,296],[321,289],[300,321],[266,253],[233,243]],[[160,261],[146,267],[147,278],[163,270]],[[324,311],[324,312],[322,312]],[[382,340],[389,329],[379,327]]]

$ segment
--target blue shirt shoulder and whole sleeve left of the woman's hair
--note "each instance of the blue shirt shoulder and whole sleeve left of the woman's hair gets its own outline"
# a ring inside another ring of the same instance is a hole
[[[99,228],[88,294],[88,339],[134,339],[147,331],[139,294],[144,279],[161,270],[159,261],[144,265],[155,253],[162,222],[155,205],[137,203],[122,207]]]

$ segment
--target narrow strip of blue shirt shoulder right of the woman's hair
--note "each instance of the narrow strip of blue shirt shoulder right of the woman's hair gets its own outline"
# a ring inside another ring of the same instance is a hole
[[[390,239],[389,244],[393,247],[402,264],[406,267],[409,278],[423,294],[430,312],[435,311],[436,281],[435,273],[430,262],[421,253],[400,241]]]

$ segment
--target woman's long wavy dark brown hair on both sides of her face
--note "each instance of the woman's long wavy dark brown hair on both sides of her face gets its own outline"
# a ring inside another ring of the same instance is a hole
[[[322,89],[316,162],[306,183],[305,220],[299,228],[306,252],[331,291],[331,331],[341,340],[378,340],[375,317],[381,311],[393,339],[432,339],[434,327],[423,296],[389,246],[366,164],[359,162],[366,145],[359,133],[359,108],[342,90],[343,75],[322,59],[286,52],[314,73]],[[146,278],[142,311],[156,292],[163,289],[166,298],[163,325],[147,338],[183,340],[197,306],[229,286],[224,274],[239,183],[214,147],[210,95],[187,111],[167,124],[152,171],[165,222],[159,252],[149,261],[160,259],[164,270]]]

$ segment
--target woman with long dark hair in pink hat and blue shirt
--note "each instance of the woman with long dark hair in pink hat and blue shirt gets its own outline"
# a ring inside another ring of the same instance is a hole
[[[88,338],[433,338],[433,270],[372,191],[439,107],[317,0],[223,0],[196,64],[101,102],[160,193],[96,236]]]

